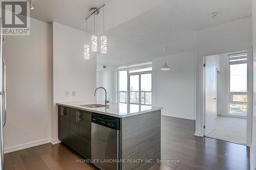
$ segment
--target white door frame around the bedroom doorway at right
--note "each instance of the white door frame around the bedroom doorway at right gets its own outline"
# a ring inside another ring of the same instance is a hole
[[[252,93],[253,93],[253,77],[252,77],[252,70],[253,70],[253,63],[252,63],[252,46],[246,50],[238,50],[237,52],[240,51],[247,51],[247,94],[248,94],[248,102],[247,102],[247,118],[246,118],[246,146],[250,147],[251,145],[251,137],[252,137]],[[236,52],[236,51],[233,51]],[[233,52],[228,52],[228,53],[220,53],[220,54],[229,54]],[[217,55],[217,54],[212,54],[212,55]],[[211,56],[211,55],[207,55]],[[202,126],[202,132],[203,132],[203,137],[205,137],[205,58],[207,56],[203,56],[203,61],[202,61],[202,66],[203,66],[203,126]],[[250,74],[251,73],[251,74]]]

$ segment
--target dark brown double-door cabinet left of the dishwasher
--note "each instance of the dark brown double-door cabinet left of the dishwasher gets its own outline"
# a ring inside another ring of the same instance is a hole
[[[68,112],[66,117],[61,114],[62,108]],[[62,106],[58,109],[59,139],[83,157],[91,159],[91,112]]]

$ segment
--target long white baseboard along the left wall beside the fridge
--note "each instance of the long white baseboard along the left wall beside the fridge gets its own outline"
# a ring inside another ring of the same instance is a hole
[[[14,151],[24,150],[27,148],[36,147],[38,145],[46,144],[50,142],[51,142],[50,139],[44,139],[44,140],[38,140],[30,143],[20,144],[20,145],[16,145],[15,147],[5,148],[4,153],[7,154]]]

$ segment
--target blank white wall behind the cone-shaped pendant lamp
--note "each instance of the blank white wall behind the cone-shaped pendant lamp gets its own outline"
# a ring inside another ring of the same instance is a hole
[[[160,69],[165,61],[170,70]],[[154,58],[153,88],[153,104],[163,115],[195,119],[195,52]]]

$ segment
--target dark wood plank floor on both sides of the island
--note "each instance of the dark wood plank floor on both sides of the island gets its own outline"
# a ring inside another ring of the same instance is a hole
[[[161,159],[179,163],[159,163],[150,170],[246,170],[249,148],[245,145],[194,136],[195,121],[162,116]],[[82,157],[64,144],[44,144],[5,154],[5,169],[95,169],[77,163]],[[143,169],[144,170],[144,169]]]

